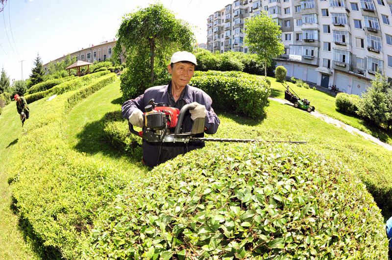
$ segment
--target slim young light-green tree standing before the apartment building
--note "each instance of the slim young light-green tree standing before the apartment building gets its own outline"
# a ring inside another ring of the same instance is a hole
[[[260,15],[253,16],[245,22],[245,44],[249,51],[256,53],[264,64],[264,74],[267,76],[267,66],[278,55],[284,53],[281,43],[282,31],[280,26],[262,11]]]

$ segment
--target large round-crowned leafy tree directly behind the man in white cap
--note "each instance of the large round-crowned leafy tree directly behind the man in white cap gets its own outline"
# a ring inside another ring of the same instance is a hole
[[[155,76],[166,73],[167,62],[177,50],[192,51],[195,36],[189,25],[174,17],[162,4],[151,4],[127,14],[117,32],[116,57],[125,50],[127,73],[138,91],[154,82]],[[126,87],[122,91],[128,97]]]

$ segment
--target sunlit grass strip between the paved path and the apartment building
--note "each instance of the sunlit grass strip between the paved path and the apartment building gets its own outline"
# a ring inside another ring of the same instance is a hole
[[[271,92],[273,97],[284,99],[285,87],[279,82],[276,82],[275,78],[268,77],[271,81]],[[303,87],[296,87],[293,83],[288,82],[289,86],[293,88],[301,98],[306,98],[311,101],[311,105],[315,106],[316,110],[322,114],[326,114],[332,118],[338,119],[343,123],[355,127],[361,131],[371,134],[381,141],[392,145],[392,134],[387,134],[380,129],[368,126],[364,120],[343,114],[336,110],[335,97],[328,93],[324,93],[319,90],[312,88],[306,89]]]

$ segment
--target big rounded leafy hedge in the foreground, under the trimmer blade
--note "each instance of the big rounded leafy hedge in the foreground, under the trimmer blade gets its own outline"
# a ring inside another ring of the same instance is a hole
[[[387,259],[388,240],[342,165],[294,146],[221,145],[131,181],[84,247],[86,259]]]

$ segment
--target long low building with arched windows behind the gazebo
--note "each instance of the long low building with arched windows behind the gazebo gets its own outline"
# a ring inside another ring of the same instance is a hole
[[[92,44],[88,48],[82,48],[81,50],[75,51],[70,53],[71,58],[76,57],[76,60],[78,61],[84,61],[84,62],[95,62],[95,61],[105,61],[106,59],[109,59],[112,57],[113,54],[113,48],[116,45],[117,40],[113,39],[112,41],[105,41],[103,43],[99,43],[98,45]],[[68,55],[68,54],[67,54]],[[57,63],[61,62],[62,60],[66,59],[67,55],[63,55],[63,57],[60,57],[54,61],[50,61],[47,64],[44,64],[44,70],[48,70],[48,65],[50,63]],[[123,63],[123,55],[120,57],[120,63]]]

